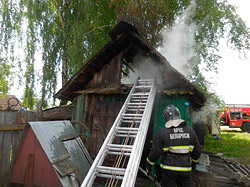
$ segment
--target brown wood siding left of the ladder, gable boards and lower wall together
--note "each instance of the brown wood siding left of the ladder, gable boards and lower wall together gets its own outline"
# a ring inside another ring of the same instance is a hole
[[[87,88],[116,88],[121,86],[123,53],[116,55],[101,71],[94,74]],[[84,99],[77,98],[74,119],[83,122],[91,132],[91,136],[84,141],[92,158],[95,158],[117,114],[119,113],[124,95],[112,94],[107,89],[103,93],[86,93]],[[80,102],[79,102],[80,101]],[[81,107],[79,107],[81,106]],[[81,114],[80,114],[81,113]],[[81,117],[82,119],[79,119]],[[82,132],[83,133],[83,132]]]

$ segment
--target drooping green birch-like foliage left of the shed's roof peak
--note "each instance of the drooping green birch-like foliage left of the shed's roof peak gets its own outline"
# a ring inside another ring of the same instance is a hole
[[[107,2],[21,0],[17,3],[6,0],[0,5],[0,41],[4,43],[1,49],[14,56],[15,53],[9,51],[15,51],[17,41],[23,43],[25,58],[19,61],[21,75],[25,78],[23,104],[31,109],[37,77],[40,77],[43,106],[46,106],[46,101],[56,91],[57,73],[62,73],[62,84],[65,84],[86,59],[108,41],[107,32],[114,25],[114,9]],[[43,69],[37,75],[36,54],[42,56],[38,64],[42,64]]]

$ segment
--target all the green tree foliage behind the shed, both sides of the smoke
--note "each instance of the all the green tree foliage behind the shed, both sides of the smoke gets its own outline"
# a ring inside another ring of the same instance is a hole
[[[20,0],[1,1],[1,50],[15,51],[16,40],[25,42],[25,60],[19,63],[25,73],[24,103],[34,106],[34,71],[36,53],[42,54],[43,106],[56,91],[58,72],[62,84],[93,54],[104,46],[108,31],[119,21],[134,24],[141,37],[154,47],[161,45],[161,31],[171,28],[189,7],[191,0]],[[220,58],[219,40],[240,52],[249,49],[249,30],[227,1],[195,0],[193,13],[187,24],[196,24],[195,54],[189,59],[194,74],[189,79],[206,91],[200,64],[215,71]],[[25,31],[25,32],[24,32]],[[226,32],[228,31],[228,32]],[[17,38],[17,39],[16,39]],[[2,44],[3,43],[3,44]]]

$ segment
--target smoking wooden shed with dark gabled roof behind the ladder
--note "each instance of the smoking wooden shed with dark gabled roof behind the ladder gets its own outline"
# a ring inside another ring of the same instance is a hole
[[[88,139],[91,146],[87,148],[92,158],[98,153],[138,76],[155,78],[157,82],[147,141],[164,126],[162,111],[168,104],[177,106],[182,118],[192,126],[192,112],[199,110],[206,101],[195,85],[140,38],[134,26],[121,21],[109,35],[111,41],[55,94],[56,98],[75,103],[74,120],[83,122],[91,132]],[[146,144],[146,149],[148,147]]]

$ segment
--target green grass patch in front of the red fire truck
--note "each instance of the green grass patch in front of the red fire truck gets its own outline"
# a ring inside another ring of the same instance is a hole
[[[239,158],[241,164],[250,164],[250,133],[222,132],[218,136],[222,140],[210,134],[205,136],[204,151],[223,153],[225,157]]]

